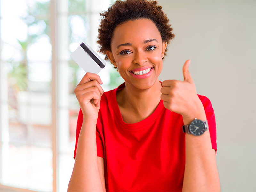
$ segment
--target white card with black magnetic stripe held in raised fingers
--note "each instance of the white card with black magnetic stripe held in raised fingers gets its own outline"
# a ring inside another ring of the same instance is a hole
[[[71,53],[71,57],[85,72],[98,74],[106,62],[85,42]]]

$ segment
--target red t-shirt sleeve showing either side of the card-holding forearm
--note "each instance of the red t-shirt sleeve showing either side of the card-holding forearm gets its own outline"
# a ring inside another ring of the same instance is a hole
[[[83,113],[82,110],[80,109],[78,118],[77,118],[77,125],[76,125],[76,144],[75,144],[75,150],[74,150],[74,159],[76,158],[76,149],[77,149],[77,143],[78,143],[78,138],[79,138],[79,133],[81,130],[83,124]],[[99,129],[98,126],[101,128]],[[96,126],[96,144],[97,144],[97,156],[104,158],[104,153],[103,153],[103,140],[101,139],[102,137],[102,125],[98,119],[97,121],[97,126]]]

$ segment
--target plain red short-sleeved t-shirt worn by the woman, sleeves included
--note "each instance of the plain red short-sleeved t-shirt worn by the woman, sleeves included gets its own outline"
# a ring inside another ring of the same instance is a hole
[[[105,161],[106,191],[182,191],[185,170],[183,119],[160,101],[146,119],[124,123],[116,102],[116,92],[104,92],[96,127],[97,156]],[[212,148],[217,151],[216,124],[210,100],[198,95],[204,105]],[[76,147],[82,126],[80,109]],[[76,147],[74,158],[76,156]]]

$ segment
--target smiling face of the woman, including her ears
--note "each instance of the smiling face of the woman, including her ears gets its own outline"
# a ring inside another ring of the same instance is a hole
[[[148,89],[158,83],[163,68],[165,42],[153,21],[127,21],[114,30],[108,58],[117,67],[126,84]]]

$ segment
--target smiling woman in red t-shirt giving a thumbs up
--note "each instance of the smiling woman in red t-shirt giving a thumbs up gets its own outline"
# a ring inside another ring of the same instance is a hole
[[[101,14],[100,52],[125,83],[104,92],[100,77],[86,73],[77,85],[81,110],[68,191],[220,191],[215,116],[209,99],[196,93],[190,60],[184,81],[158,80],[174,37],[161,8],[126,0]],[[194,135],[198,124],[192,134],[183,131],[195,118],[203,122],[201,135]]]

